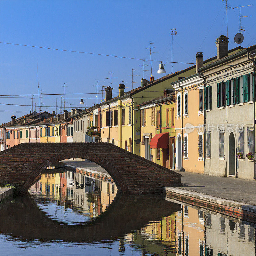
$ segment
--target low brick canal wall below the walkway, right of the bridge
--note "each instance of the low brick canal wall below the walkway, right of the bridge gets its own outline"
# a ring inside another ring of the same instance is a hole
[[[186,191],[188,192],[188,191]],[[202,197],[207,198],[206,195],[201,194]],[[217,202],[211,202],[210,200],[206,200],[206,199],[202,199],[202,198],[198,198],[195,197],[193,195],[189,196],[189,195],[184,195],[182,193],[179,193],[178,191],[168,191],[168,189],[164,189],[164,196],[170,199],[174,199],[183,203],[187,203],[187,204],[191,204],[200,208],[204,208],[206,210],[210,210],[213,212],[218,212],[233,218],[237,218],[240,220],[244,220],[247,222],[251,222],[251,223],[256,223],[256,213],[255,213],[255,209],[249,209],[250,207],[248,207],[248,205],[244,205],[244,209],[243,207],[236,207],[235,203],[232,206],[231,204],[228,205],[224,205],[221,203],[217,203]],[[219,199],[219,198],[216,198]],[[223,199],[224,200],[224,199]],[[219,201],[219,200],[216,200]],[[224,200],[225,201],[225,200]],[[229,201],[232,202],[232,201]],[[253,207],[253,206],[252,206]],[[254,207],[253,207],[254,208]]]

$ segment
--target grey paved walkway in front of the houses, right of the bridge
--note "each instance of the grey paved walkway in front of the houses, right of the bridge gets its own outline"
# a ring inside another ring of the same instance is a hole
[[[180,172],[182,189],[232,201],[256,205],[256,181]]]

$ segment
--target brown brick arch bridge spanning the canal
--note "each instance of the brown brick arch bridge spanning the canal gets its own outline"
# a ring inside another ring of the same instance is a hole
[[[48,166],[69,158],[99,164],[124,193],[162,193],[163,186],[181,186],[181,175],[111,143],[22,143],[0,153],[0,184],[28,191]]]

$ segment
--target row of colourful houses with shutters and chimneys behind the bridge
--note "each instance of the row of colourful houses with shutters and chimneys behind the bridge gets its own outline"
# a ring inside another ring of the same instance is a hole
[[[110,142],[174,170],[255,179],[256,45],[228,50],[87,109],[2,124],[1,150],[22,142]]]

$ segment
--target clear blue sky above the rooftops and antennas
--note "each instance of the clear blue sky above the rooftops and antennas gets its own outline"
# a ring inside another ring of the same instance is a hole
[[[1,1],[0,41],[41,47],[92,52],[108,55],[171,61],[171,34],[173,61],[195,63],[196,52],[203,52],[204,60],[216,56],[216,38],[227,35],[225,1]],[[228,5],[254,6],[241,8],[242,25],[246,30],[243,47],[256,44],[256,4],[253,0],[228,1]],[[228,9],[229,49],[237,44],[234,36],[239,32],[239,9]],[[147,61],[145,78],[151,76]],[[38,65],[38,77],[37,77]],[[108,86],[109,72],[113,72],[111,87],[118,92],[118,84],[124,81],[125,91],[140,85],[143,77],[142,60],[114,58],[83,53],[63,52],[18,45],[0,44],[0,95],[35,94],[33,103],[38,105],[38,81],[44,106],[61,106],[63,85],[66,93],[96,93],[96,81],[101,92]],[[173,72],[192,64],[173,64]],[[155,79],[161,77],[159,62],[152,62]],[[167,74],[171,64],[166,63]],[[163,76],[163,75],[162,75]],[[36,96],[37,94],[37,96]],[[117,94],[113,94],[116,96]],[[66,109],[90,107],[96,103],[96,94],[66,95]],[[86,99],[93,98],[93,99]],[[98,103],[101,93],[98,95]],[[31,96],[0,96],[0,103],[31,105]],[[62,103],[62,106],[64,103]],[[68,106],[68,107],[67,107]],[[0,123],[11,121],[10,116],[22,116],[32,107],[0,105]],[[62,112],[63,112],[62,108]],[[35,110],[35,107],[33,108]],[[47,108],[51,112],[54,108]],[[36,107],[38,111],[38,107]],[[58,108],[60,113],[60,108]]]

